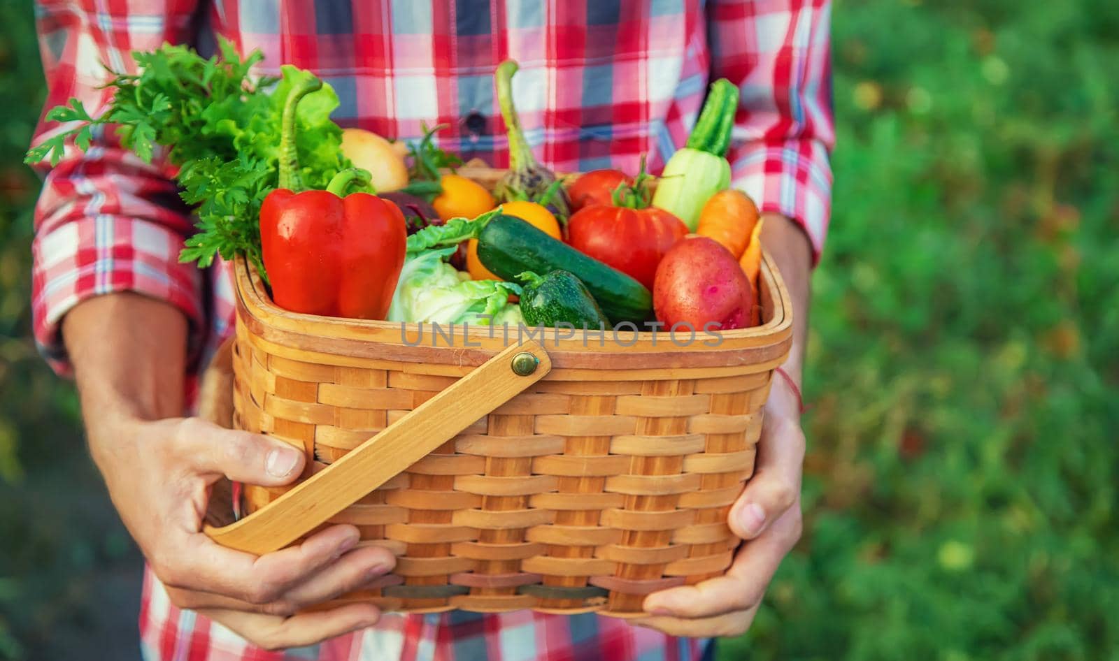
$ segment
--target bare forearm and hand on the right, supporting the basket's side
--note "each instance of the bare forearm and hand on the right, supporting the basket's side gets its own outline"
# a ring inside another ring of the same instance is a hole
[[[782,366],[800,383],[808,329],[811,248],[796,223],[765,215],[762,244],[769,251],[792,299],[793,338]],[[800,478],[805,433],[800,400],[784,377],[774,374],[765,402],[754,475],[731,508],[727,525],[743,545],[724,576],[674,587],[646,597],[652,617],[633,624],[671,635],[730,636],[750,629],[778,565],[800,539]]]

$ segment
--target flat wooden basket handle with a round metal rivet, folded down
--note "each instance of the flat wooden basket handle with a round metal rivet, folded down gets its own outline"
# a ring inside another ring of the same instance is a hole
[[[214,541],[251,554],[279,550],[405,471],[552,369],[532,340],[513,344],[291,491],[225,526]]]

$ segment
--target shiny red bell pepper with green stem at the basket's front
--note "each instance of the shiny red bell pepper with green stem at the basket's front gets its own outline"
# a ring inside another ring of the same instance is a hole
[[[280,188],[261,206],[261,252],[278,305],[292,312],[384,319],[404,266],[404,215],[367,192],[345,195],[365,170],[342,170],[327,190],[295,192],[294,107],[321,83],[292,89],[284,107]]]

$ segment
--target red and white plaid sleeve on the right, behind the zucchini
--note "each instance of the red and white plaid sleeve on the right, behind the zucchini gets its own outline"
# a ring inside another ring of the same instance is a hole
[[[715,0],[707,11],[712,79],[741,91],[733,185],[798,221],[816,263],[831,210],[831,2]]]

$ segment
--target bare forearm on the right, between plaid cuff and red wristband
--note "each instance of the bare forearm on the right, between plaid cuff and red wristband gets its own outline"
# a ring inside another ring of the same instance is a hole
[[[765,214],[764,218],[762,245],[777,263],[792,299],[792,348],[782,367],[799,385],[808,342],[812,247],[799,224],[779,214]]]

